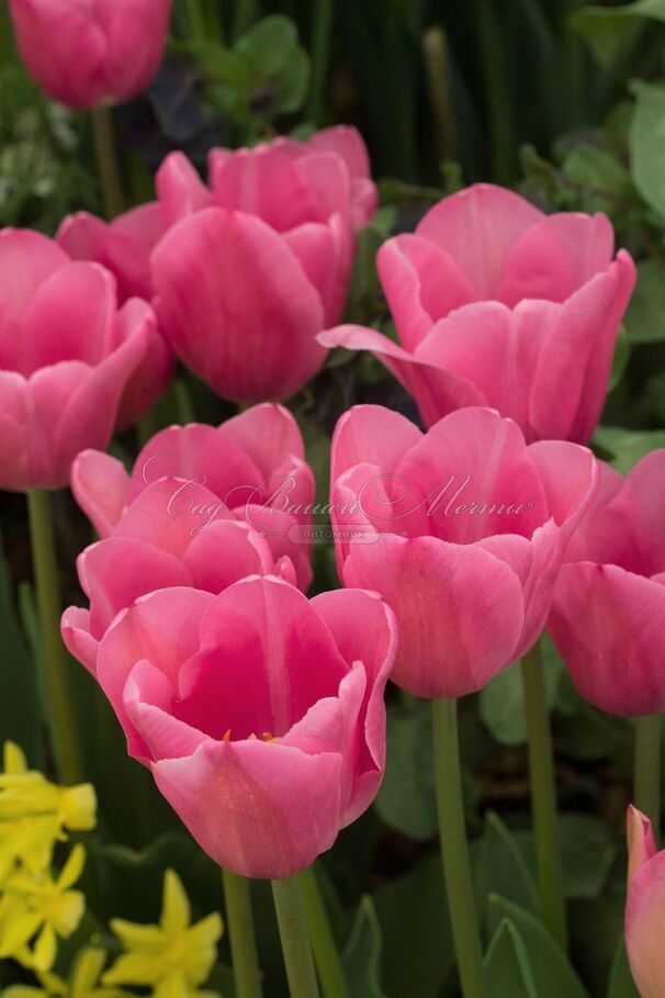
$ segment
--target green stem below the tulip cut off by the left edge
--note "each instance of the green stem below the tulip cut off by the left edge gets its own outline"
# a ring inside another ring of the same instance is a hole
[[[74,785],[80,782],[83,773],[68,683],[67,652],[60,637],[60,588],[49,493],[42,489],[29,492],[27,511],[54,751],[60,780]]]

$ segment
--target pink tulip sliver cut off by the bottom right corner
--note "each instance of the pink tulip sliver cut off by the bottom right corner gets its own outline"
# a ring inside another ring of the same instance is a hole
[[[656,851],[651,821],[628,809],[628,904],[625,947],[641,998],[665,995],[665,850]]]

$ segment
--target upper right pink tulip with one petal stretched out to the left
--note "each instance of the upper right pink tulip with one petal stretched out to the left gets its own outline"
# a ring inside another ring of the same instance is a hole
[[[543,215],[511,191],[475,184],[381,247],[401,345],[362,326],[319,341],[375,354],[428,426],[491,405],[529,441],[586,444],[635,281],[630,256],[612,256],[605,215]]]

